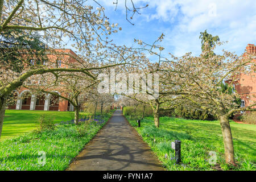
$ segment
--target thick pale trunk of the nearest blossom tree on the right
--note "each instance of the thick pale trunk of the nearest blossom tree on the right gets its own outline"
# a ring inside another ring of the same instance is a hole
[[[234,161],[234,146],[232,133],[229,125],[229,118],[226,115],[220,115],[218,119],[220,120],[223,136],[226,163],[236,165]]]

